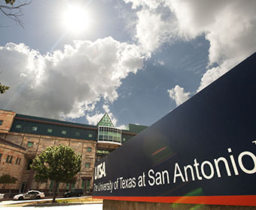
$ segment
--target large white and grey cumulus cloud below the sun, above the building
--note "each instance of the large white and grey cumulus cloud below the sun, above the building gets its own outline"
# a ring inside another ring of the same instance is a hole
[[[78,118],[100,98],[113,102],[121,80],[143,68],[139,46],[112,37],[76,40],[41,55],[23,43],[0,46],[1,82],[11,89],[0,107],[50,118]]]

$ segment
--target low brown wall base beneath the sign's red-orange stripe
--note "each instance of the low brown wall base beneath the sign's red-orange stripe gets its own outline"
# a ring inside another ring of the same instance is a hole
[[[255,210],[256,206],[203,205],[103,200],[103,210]]]

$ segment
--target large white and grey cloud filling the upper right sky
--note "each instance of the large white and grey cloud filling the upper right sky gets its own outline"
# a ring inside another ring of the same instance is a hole
[[[155,50],[177,37],[191,40],[205,35],[210,43],[209,69],[198,90],[256,51],[256,1],[124,1],[139,10],[136,37],[146,49]],[[172,15],[166,15],[166,10]],[[218,67],[211,68],[213,64]]]

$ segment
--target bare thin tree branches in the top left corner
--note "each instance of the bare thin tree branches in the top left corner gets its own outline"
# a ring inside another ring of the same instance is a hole
[[[30,3],[31,1],[22,0],[15,4],[15,0],[5,0],[5,5],[0,4],[0,11],[4,13],[6,17],[14,20],[18,25],[23,27],[23,22],[20,20],[20,17],[23,16],[23,7]]]

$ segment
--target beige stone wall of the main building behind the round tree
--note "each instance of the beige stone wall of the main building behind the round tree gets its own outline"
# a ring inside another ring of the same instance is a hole
[[[82,166],[81,172],[76,175],[77,182],[75,187],[81,188],[82,178],[91,178],[90,188],[93,188],[93,168],[96,160],[96,142],[91,140],[83,140],[83,139],[69,139],[69,138],[61,138],[55,136],[40,136],[29,133],[14,133],[10,132],[7,134],[6,139],[10,142],[13,142],[17,145],[21,145],[26,148],[26,166],[29,163],[29,158],[34,158],[36,154],[40,154],[44,151],[44,148],[52,145],[69,145],[72,147],[75,152],[79,152],[82,154]],[[33,142],[32,146],[29,146],[28,142]],[[91,151],[87,151],[87,148],[91,148]],[[90,168],[86,168],[86,163],[90,163]],[[21,181],[28,181],[29,178],[29,170],[24,169],[23,178]],[[48,189],[50,186],[50,181],[45,184],[37,184],[35,181],[32,181],[32,185],[30,188],[39,188],[39,189]],[[60,189],[65,189],[66,184],[61,183],[59,185]]]

